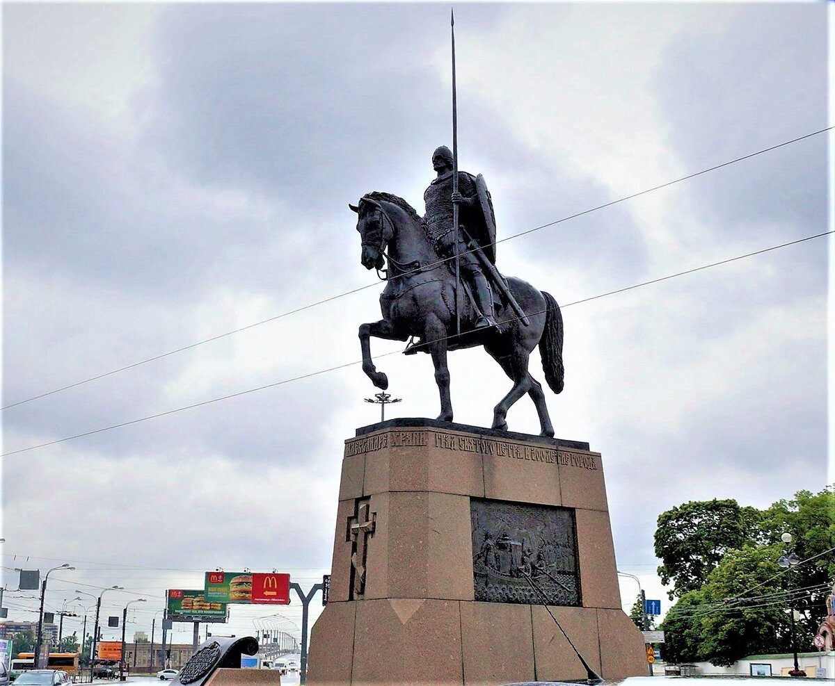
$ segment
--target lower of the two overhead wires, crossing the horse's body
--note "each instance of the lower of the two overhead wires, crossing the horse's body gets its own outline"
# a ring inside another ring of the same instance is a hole
[[[566,305],[563,305],[563,309],[566,308],[566,307],[570,307],[571,305],[579,305],[579,304],[584,303],[584,302],[589,302],[590,300],[598,300],[599,298],[604,298],[607,295],[616,295],[618,293],[623,293],[627,290],[634,290],[636,288],[640,288],[640,287],[645,286],[645,285],[656,284],[660,281],[674,279],[674,278],[676,278],[676,276],[683,276],[683,275],[687,275],[687,274],[692,274],[693,272],[696,272],[696,271],[706,270],[706,269],[709,269],[710,267],[715,267],[715,266],[719,266],[719,265],[726,265],[729,262],[733,262],[733,261],[736,261],[736,260],[743,260],[746,257],[752,257],[754,255],[762,255],[762,253],[766,253],[766,252],[769,252],[771,250],[778,250],[780,248],[785,248],[789,245],[797,245],[798,243],[803,243],[804,241],[820,238],[822,236],[830,235],[832,233],[835,233],[835,231],[824,231],[822,234],[816,234],[816,235],[807,236],[806,238],[802,238],[802,239],[791,240],[791,241],[788,241],[787,243],[783,243],[781,245],[772,245],[772,247],[770,247],[770,248],[763,248],[762,250],[755,250],[754,252],[747,253],[746,255],[737,255],[736,257],[731,257],[731,258],[728,258],[727,260],[721,260],[719,262],[713,262],[710,265],[702,265],[701,267],[696,267],[696,268],[691,269],[691,270],[684,270],[684,271],[676,272],[676,274],[662,276],[659,279],[644,281],[640,284],[627,286],[625,288],[621,288],[621,289],[618,289],[618,290],[612,290],[612,291],[609,291],[608,293],[601,293],[600,295],[593,295],[589,298],[584,298],[583,300],[575,300],[574,302],[570,302]],[[539,312],[529,312],[528,315],[529,316],[541,315],[541,314],[544,314],[547,311],[548,310],[545,309],[545,310],[541,310]],[[504,322],[504,324],[509,324],[509,323],[511,323],[513,321],[516,321],[518,319],[519,318],[514,318],[512,320],[507,320],[507,321]],[[440,338],[438,340],[433,340],[433,341],[428,341],[428,342],[435,343],[435,342],[438,342],[440,340],[448,340],[448,339],[453,338],[453,337],[454,337],[454,335],[448,335],[448,336],[444,336],[443,338]],[[381,353],[381,354],[375,356],[374,359],[380,359],[382,357],[397,355],[399,352],[400,352],[400,350],[398,349],[398,350],[387,352],[387,353]],[[110,431],[112,429],[119,429],[119,428],[122,428],[124,426],[131,426],[133,424],[139,424],[140,422],[143,422],[143,421],[149,421],[149,420],[152,420],[152,419],[159,419],[159,417],[173,415],[177,412],[182,412],[182,411],[185,411],[185,410],[193,410],[196,407],[202,407],[202,406],[206,406],[206,405],[211,405],[212,403],[215,403],[215,402],[230,400],[230,398],[245,396],[249,393],[255,393],[256,391],[265,391],[268,388],[275,388],[276,386],[284,386],[285,384],[291,383],[293,381],[301,381],[303,379],[309,379],[313,376],[321,376],[322,374],[326,374],[326,373],[331,372],[331,371],[338,371],[338,370],[341,370],[341,369],[346,369],[347,367],[350,367],[350,366],[362,364],[362,362],[364,362],[364,361],[365,360],[363,359],[363,360],[355,360],[355,361],[351,361],[351,362],[345,362],[342,365],[331,366],[331,367],[327,367],[326,369],[321,369],[321,370],[318,370],[318,371],[311,371],[311,372],[308,372],[307,374],[301,374],[299,376],[291,376],[291,378],[289,378],[289,379],[282,379],[281,381],[275,381],[271,384],[265,384],[264,386],[257,386],[256,388],[250,388],[250,389],[247,389],[246,391],[237,391],[235,393],[229,393],[225,396],[212,398],[212,399],[207,400],[207,401],[195,402],[195,403],[192,403],[191,405],[177,407],[174,410],[166,410],[164,412],[158,412],[154,415],[139,417],[139,419],[132,419],[130,421],[122,421],[119,424],[113,424],[111,426],[103,426],[100,429],[94,429],[92,431],[83,431],[83,433],[74,434],[73,436],[64,436],[63,438],[58,438],[55,441],[47,441],[46,443],[39,443],[38,445],[35,445],[35,446],[28,446],[26,448],[20,448],[19,450],[4,452],[0,456],[7,457],[7,456],[11,456],[11,455],[18,455],[19,453],[22,453],[22,452],[28,452],[30,450],[36,450],[38,448],[43,448],[43,447],[47,447],[47,446],[54,446],[54,445],[57,445],[58,443],[63,443],[64,441],[73,441],[76,438],[83,438],[84,436],[94,436],[94,434],[102,433],[103,431]]]

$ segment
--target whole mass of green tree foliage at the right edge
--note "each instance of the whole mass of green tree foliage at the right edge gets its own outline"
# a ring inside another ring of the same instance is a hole
[[[791,652],[790,606],[799,613],[797,648],[811,648],[835,578],[831,489],[798,492],[763,511],[735,501],[688,502],[662,514],[659,524],[665,531],[656,532],[656,551],[665,553],[663,568],[678,596],[660,626],[665,659],[730,665],[746,655]],[[721,536],[703,528],[711,526],[734,535],[736,545],[717,545]],[[784,532],[792,534],[789,545]],[[792,550],[801,562],[779,567],[777,559]]]

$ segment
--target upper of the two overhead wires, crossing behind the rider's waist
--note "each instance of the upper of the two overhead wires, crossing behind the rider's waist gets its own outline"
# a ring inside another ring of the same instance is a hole
[[[771,152],[772,150],[776,150],[776,149],[782,148],[786,145],[797,143],[798,141],[801,141],[803,139],[811,138],[812,136],[817,136],[818,134],[823,134],[823,133],[825,133],[827,131],[830,131],[832,129],[835,129],[835,127],[830,126],[830,127],[827,127],[826,129],[820,129],[818,131],[814,131],[811,134],[805,134],[805,135],[802,135],[802,136],[798,136],[797,138],[784,141],[780,144],[772,145],[769,148],[764,148],[762,150],[757,150],[757,152],[755,152],[755,153],[746,154],[746,155],[743,155],[742,157],[738,157],[736,159],[731,159],[731,160],[728,160],[727,162],[723,162],[721,164],[716,164],[716,165],[714,165],[712,167],[709,167],[707,169],[701,169],[701,171],[697,171],[693,174],[687,174],[686,176],[682,176],[679,179],[673,179],[672,181],[667,181],[664,184],[659,184],[657,186],[653,186],[650,189],[645,189],[645,190],[639,191],[638,193],[625,195],[622,198],[619,198],[619,199],[616,199],[616,200],[611,200],[608,203],[600,204],[600,205],[597,205],[597,206],[592,207],[590,209],[584,209],[582,212],[577,212],[575,214],[569,214],[569,216],[567,216],[567,217],[563,217],[562,219],[556,219],[555,221],[549,222],[548,224],[541,224],[540,226],[534,227],[534,229],[529,229],[529,230],[526,230],[526,231],[521,231],[518,234],[509,235],[508,237],[506,237],[504,239],[497,240],[496,243],[497,244],[498,243],[504,243],[505,241],[514,240],[516,238],[519,238],[520,236],[532,234],[532,233],[534,233],[534,231],[547,229],[551,226],[555,226],[556,224],[562,224],[565,221],[569,221],[569,219],[576,219],[577,217],[581,217],[584,214],[590,214],[590,213],[596,212],[600,209],[605,209],[607,207],[611,207],[612,205],[623,203],[626,200],[638,198],[641,195],[645,195],[645,194],[648,194],[648,193],[652,193],[656,190],[667,188],[668,186],[671,186],[673,184],[679,184],[682,181],[686,181],[688,179],[694,179],[696,176],[701,176],[701,174],[707,174],[708,172],[715,171],[716,169],[721,169],[721,168],[727,167],[731,164],[736,164],[737,162],[741,162],[741,161],[746,160],[746,159],[751,159],[753,157],[757,157],[757,155],[761,155],[761,154],[764,154],[764,153]],[[473,250],[469,250],[468,252],[473,252]],[[466,255],[467,253],[464,253],[464,254]],[[447,262],[448,260],[454,260],[454,259],[455,259],[455,256],[446,258],[444,260],[438,260],[437,263],[433,263],[433,264],[434,265],[443,265],[443,263]],[[403,276],[410,275],[411,273],[412,272],[407,271],[406,273],[401,275],[401,278]],[[263,324],[268,324],[271,321],[276,321],[276,320],[282,319],[282,318],[284,318],[286,316],[289,316],[289,315],[295,315],[295,314],[297,314],[299,312],[302,312],[304,310],[309,310],[312,307],[316,307],[317,305],[324,305],[325,303],[331,302],[333,300],[338,300],[339,298],[346,297],[347,295],[353,295],[354,293],[358,293],[361,290],[367,290],[369,288],[372,288],[372,287],[376,286],[377,283],[378,282],[371,283],[371,284],[364,285],[364,286],[359,286],[358,288],[355,288],[355,289],[352,289],[352,290],[347,290],[344,293],[340,293],[340,294],[337,294],[337,295],[331,295],[330,297],[324,298],[322,300],[316,300],[316,302],[309,303],[308,305],[302,305],[301,307],[297,307],[294,310],[287,310],[286,312],[282,312],[280,315],[269,317],[265,320],[256,321],[255,323],[249,324],[249,325],[246,325],[246,326],[241,326],[239,329],[226,331],[225,333],[214,335],[214,336],[211,336],[210,338],[206,338],[204,340],[198,340],[197,342],[191,343],[188,346],[182,346],[180,348],[176,348],[173,351],[164,352],[164,353],[161,353],[160,355],[149,357],[145,360],[142,360],[142,361],[139,361],[139,362],[134,362],[132,364],[119,367],[118,369],[114,369],[114,370],[111,370],[111,371],[106,371],[103,374],[99,374],[97,376],[91,376],[91,377],[89,377],[89,379],[84,379],[83,381],[76,381],[75,383],[68,384],[67,386],[61,386],[60,388],[56,388],[53,391],[47,391],[47,392],[41,393],[37,396],[32,396],[32,397],[29,397],[29,398],[25,398],[24,400],[21,400],[21,401],[16,401],[16,402],[13,402],[13,403],[9,403],[6,406],[0,407],[0,411],[8,410],[8,409],[11,409],[12,407],[17,407],[19,405],[23,405],[24,403],[27,403],[27,402],[39,400],[40,398],[45,398],[47,396],[52,396],[55,393],[60,393],[61,391],[68,391],[71,388],[76,388],[77,386],[83,386],[84,384],[90,383],[91,381],[98,381],[99,379],[104,379],[106,376],[112,376],[114,374],[118,374],[121,371],[127,371],[129,369],[133,369],[134,367],[138,367],[138,366],[148,364],[149,362],[162,360],[164,357],[176,355],[180,352],[185,352],[185,351],[191,350],[192,348],[195,348],[197,346],[203,346],[206,343],[210,343],[214,340],[220,340],[221,338],[225,338],[226,336],[234,335],[234,334],[240,333],[241,331],[253,329],[256,326],[261,326]]]

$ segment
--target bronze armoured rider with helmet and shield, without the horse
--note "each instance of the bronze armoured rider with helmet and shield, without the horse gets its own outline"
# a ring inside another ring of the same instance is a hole
[[[493,295],[490,292],[487,277],[484,276],[478,258],[473,255],[463,235],[453,227],[453,203],[458,204],[458,223],[463,225],[471,238],[478,240],[480,232],[474,219],[478,209],[478,194],[475,179],[467,172],[458,172],[458,193],[453,193],[453,154],[446,145],[436,149],[432,155],[432,166],[438,176],[429,184],[423,194],[426,203],[426,229],[433,241],[436,252],[442,258],[455,255],[456,235],[458,235],[458,260],[461,273],[468,280],[473,291],[478,320],[475,328],[483,329],[495,326],[493,314]]]

